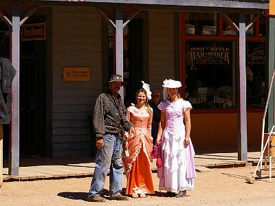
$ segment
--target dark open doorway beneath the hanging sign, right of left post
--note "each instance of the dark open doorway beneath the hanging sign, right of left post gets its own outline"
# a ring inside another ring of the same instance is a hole
[[[44,21],[43,16],[36,16],[33,19]],[[46,77],[45,41],[21,41],[19,79],[21,157],[46,154]]]

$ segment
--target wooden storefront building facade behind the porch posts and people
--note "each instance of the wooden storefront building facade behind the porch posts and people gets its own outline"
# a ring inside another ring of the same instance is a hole
[[[191,137],[197,151],[236,151],[240,146],[259,150],[271,67],[270,18],[263,14],[269,1],[3,1],[0,55],[8,58],[12,32],[5,19],[12,19],[14,5],[21,19],[36,9],[21,25],[21,155],[93,155],[89,116],[114,72],[122,72],[129,83],[125,104],[134,101],[141,80],[159,91],[164,79],[181,80],[186,86],[181,95],[194,107]],[[124,23],[130,16],[123,29],[120,64],[115,61],[118,40],[111,24],[120,23],[118,9]],[[22,38],[22,26],[35,30],[40,23],[45,38]],[[239,54],[243,42],[238,30],[250,23],[242,37],[246,53]],[[89,68],[89,78],[65,80],[66,68]],[[243,74],[245,87],[240,86]],[[245,119],[240,88],[245,88]],[[240,132],[241,126],[247,133]],[[10,128],[5,130],[9,134]],[[238,144],[244,138],[240,135],[247,138],[244,146]],[[8,144],[4,142],[7,151]]]

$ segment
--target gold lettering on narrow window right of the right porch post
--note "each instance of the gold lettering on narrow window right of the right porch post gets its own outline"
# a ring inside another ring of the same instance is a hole
[[[265,44],[250,43],[247,45],[247,62],[248,65],[265,65]]]

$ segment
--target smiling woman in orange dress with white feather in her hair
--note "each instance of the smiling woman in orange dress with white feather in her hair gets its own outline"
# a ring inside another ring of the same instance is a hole
[[[142,82],[144,83],[144,82]],[[153,138],[151,137],[151,124],[153,109],[148,105],[151,92],[148,84],[146,89],[139,89],[135,94],[137,104],[127,108],[127,119],[135,126],[135,137],[128,137],[125,149],[129,150],[129,157],[123,157],[124,168],[127,176],[126,194],[133,198],[154,193],[151,176],[151,152]]]

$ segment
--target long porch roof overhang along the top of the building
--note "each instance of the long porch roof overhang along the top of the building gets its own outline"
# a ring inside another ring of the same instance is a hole
[[[255,12],[267,10],[265,0],[1,0],[1,5],[86,5],[109,8],[134,8],[142,10]]]

